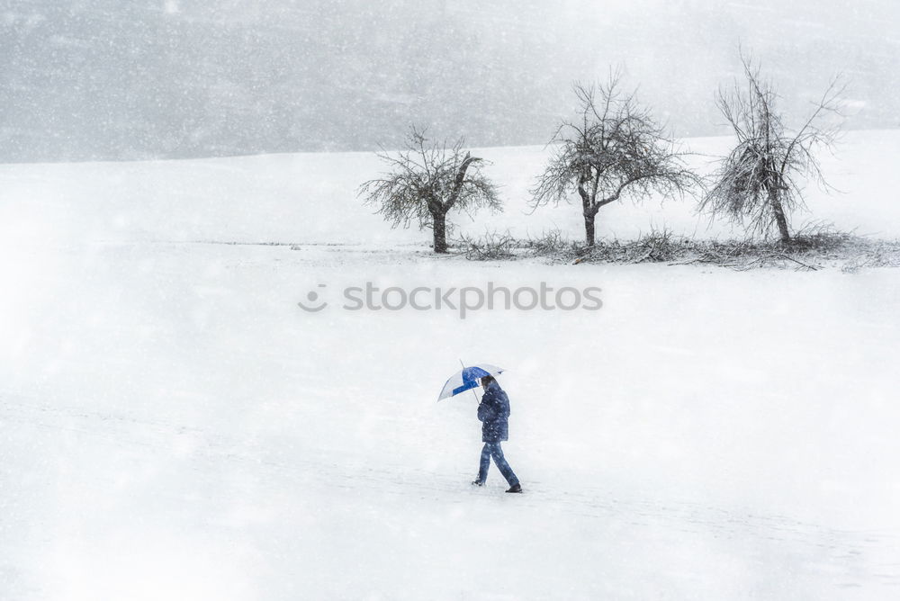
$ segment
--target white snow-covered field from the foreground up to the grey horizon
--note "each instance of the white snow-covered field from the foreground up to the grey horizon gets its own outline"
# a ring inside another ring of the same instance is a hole
[[[849,134],[815,217],[900,236],[898,151]],[[580,235],[526,214],[543,152],[484,151],[491,228]],[[437,258],[360,208],[378,168],[0,166],[0,598],[900,596],[900,272]],[[734,235],[608,209],[603,235]],[[603,306],[343,309],[368,282]],[[469,485],[475,399],[435,402],[459,359],[509,370],[525,495]]]

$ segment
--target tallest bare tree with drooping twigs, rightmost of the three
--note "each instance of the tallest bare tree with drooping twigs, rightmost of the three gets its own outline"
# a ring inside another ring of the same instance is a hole
[[[723,214],[747,223],[752,233],[769,236],[778,228],[782,242],[790,242],[788,215],[805,207],[801,184],[825,182],[815,151],[832,148],[838,127],[823,123],[827,113],[838,113],[843,88],[834,79],[796,132],[785,126],[776,111],[777,94],[760,68],[741,55],[745,86],[735,81],[720,89],[716,104],[734,130],[737,144],[722,160],[716,184],[700,202],[700,210]]]

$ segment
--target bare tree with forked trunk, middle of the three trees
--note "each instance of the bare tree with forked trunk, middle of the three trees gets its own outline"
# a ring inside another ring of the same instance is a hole
[[[581,105],[577,121],[563,121],[551,144],[554,156],[532,189],[532,205],[581,197],[585,242],[594,245],[594,220],[600,207],[621,198],[638,201],[659,193],[682,196],[699,178],[683,162],[662,125],[635,94],[619,90],[621,74],[602,85],[574,85]]]

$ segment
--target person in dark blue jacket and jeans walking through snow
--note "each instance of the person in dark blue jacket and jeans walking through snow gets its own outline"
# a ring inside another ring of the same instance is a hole
[[[478,479],[473,481],[475,486],[484,486],[488,479],[488,468],[491,467],[491,457],[497,464],[500,473],[509,482],[507,492],[522,492],[516,473],[509,467],[500,442],[509,440],[509,397],[500,388],[500,384],[491,375],[482,378],[482,402],[478,405],[478,419],[482,422],[482,462],[478,470]]]

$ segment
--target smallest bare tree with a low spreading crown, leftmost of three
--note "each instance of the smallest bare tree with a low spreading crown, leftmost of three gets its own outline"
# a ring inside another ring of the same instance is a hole
[[[365,203],[378,207],[392,227],[434,231],[436,253],[447,252],[446,215],[451,209],[471,212],[481,207],[500,210],[497,187],[482,174],[484,160],[464,151],[464,139],[448,145],[430,141],[425,130],[410,128],[406,148],[395,154],[378,153],[388,173],[359,187]]]

